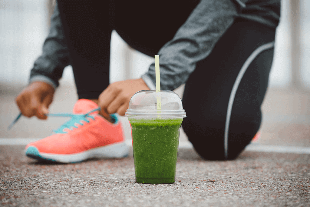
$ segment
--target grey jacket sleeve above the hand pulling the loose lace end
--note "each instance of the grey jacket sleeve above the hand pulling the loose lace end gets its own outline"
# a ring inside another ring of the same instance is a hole
[[[50,31],[43,44],[42,55],[34,62],[29,83],[42,81],[49,83],[55,89],[58,87],[58,81],[67,65],[70,65],[69,52],[61,28],[58,4],[56,3],[54,13],[51,16]]]

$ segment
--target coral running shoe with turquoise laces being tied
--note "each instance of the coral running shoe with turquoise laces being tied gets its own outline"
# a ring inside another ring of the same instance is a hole
[[[89,158],[122,158],[128,155],[122,125],[116,114],[108,122],[98,115],[98,105],[79,99],[71,119],[52,134],[25,149],[28,157],[62,163],[81,162]]]

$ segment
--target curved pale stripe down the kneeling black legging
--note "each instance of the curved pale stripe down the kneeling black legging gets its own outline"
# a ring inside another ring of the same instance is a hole
[[[227,107],[227,115],[226,115],[226,122],[225,122],[225,134],[224,134],[224,150],[225,150],[225,159],[228,158],[228,130],[229,130],[229,122],[230,122],[230,116],[232,113],[232,105],[233,101],[235,99],[235,95],[237,92],[237,89],[239,87],[239,84],[241,82],[241,79],[246,72],[246,69],[249,67],[249,65],[252,63],[252,61],[259,55],[259,53],[263,52],[264,50],[268,50],[274,46],[274,42],[264,44],[260,47],[258,47],[252,54],[246,59],[245,63],[242,65],[241,70],[239,71],[239,74],[236,78],[235,83],[232,87],[232,92],[230,93],[229,101],[228,101],[228,107]]]

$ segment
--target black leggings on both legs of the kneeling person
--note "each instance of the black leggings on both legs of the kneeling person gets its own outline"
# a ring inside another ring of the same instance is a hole
[[[153,14],[163,7],[140,11],[135,2],[120,6],[110,1],[107,7],[86,1],[58,3],[78,96],[96,99],[109,84],[113,29],[131,47],[154,56],[198,2],[178,4],[177,9],[165,4],[158,16]],[[258,131],[274,38],[275,29],[236,19],[186,82],[183,107],[188,117],[182,126],[205,159],[236,158]]]

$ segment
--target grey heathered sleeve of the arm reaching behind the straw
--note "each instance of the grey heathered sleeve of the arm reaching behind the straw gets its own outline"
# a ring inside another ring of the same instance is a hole
[[[174,38],[158,52],[161,89],[174,90],[185,83],[196,63],[210,54],[236,16],[237,9],[231,0],[201,0]],[[150,89],[156,88],[155,63],[142,79]]]

